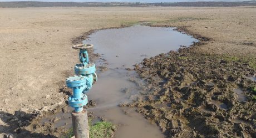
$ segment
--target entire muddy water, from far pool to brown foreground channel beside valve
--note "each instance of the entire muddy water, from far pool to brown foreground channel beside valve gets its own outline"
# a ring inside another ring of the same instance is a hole
[[[88,109],[94,115],[120,124],[115,136],[119,138],[164,137],[156,125],[149,124],[135,109],[117,106],[137,98],[143,83],[137,79],[133,65],[144,58],[150,58],[170,50],[178,50],[180,45],[189,47],[197,40],[177,32],[173,28],[152,28],[137,25],[122,29],[99,30],[89,36],[84,43],[91,43],[95,53],[101,54],[97,67],[107,67],[99,71],[99,80],[88,93],[88,99],[97,102],[97,107]]]

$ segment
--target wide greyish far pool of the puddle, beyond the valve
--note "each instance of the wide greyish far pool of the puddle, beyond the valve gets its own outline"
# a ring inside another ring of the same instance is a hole
[[[95,53],[104,54],[111,68],[132,68],[144,58],[154,57],[180,45],[189,46],[198,40],[177,32],[174,28],[136,25],[122,29],[99,30],[89,36],[85,43],[95,45]]]

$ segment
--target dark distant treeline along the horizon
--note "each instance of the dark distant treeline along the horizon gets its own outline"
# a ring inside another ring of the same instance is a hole
[[[111,7],[111,6],[179,6],[179,7],[235,7],[256,6],[256,1],[244,2],[175,2],[175,3],[120,3],[120,2],[0,2],[1,8],[22,7]]]

